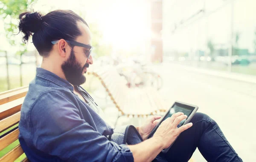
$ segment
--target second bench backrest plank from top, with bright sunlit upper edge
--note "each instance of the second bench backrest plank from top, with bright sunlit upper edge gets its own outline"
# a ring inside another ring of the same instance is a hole
[[[25,97],[0,105],[0,120],[19,112],[24,98]]]

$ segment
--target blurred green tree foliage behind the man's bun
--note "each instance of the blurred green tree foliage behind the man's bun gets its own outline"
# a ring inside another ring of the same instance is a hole
[[[20,51],[17,54],[26,52],[26,45],[15,39],[18,34],[17,19],[21,12],[27,11],[28,6],[35,0],[0,0],[0,19],[4,22],[6,38],[11,45],[20,45]]]

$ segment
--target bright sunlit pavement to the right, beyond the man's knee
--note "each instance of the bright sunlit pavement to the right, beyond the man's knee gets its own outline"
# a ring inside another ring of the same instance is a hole
[[[172,64],[157,69],[164,80],[160,93],[167,96],[170,105],[175,100],[198,105],[198,112],[218,123],[244,162],[256,161],[256,97],[252,94],[256,84],[196,73]],[[193,157],[196,162],[205,162],[198,150]]]

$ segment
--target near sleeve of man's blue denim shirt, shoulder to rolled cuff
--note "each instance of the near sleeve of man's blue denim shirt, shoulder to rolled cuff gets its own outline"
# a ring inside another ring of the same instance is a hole
[[[117,145],[79,115],[79,109],[60,92],[48,92],[33,106],[32,145],[46,154],[72,162],[133,162],[126,145]]]

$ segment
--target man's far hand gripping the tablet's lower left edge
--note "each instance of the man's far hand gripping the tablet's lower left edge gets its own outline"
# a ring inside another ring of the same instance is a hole
[[[146,122],[140,126],[136,127],[137,131],[140,133],[140,136],[143,138],[143,140],[146,140],[151,133],[151,131],[154,129],[155,126],[160,122],[161,116],[152,116]]]

